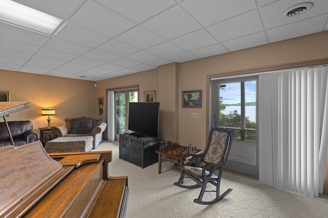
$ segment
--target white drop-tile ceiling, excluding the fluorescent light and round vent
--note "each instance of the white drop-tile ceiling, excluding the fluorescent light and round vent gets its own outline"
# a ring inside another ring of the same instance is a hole
[[[328,1],[15,0],[63,19],[52,35],[0,22],[0,69],[99,81],[328,30]]]

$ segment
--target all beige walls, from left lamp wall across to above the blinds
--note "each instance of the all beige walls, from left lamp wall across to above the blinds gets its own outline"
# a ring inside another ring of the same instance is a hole
[[[270,69],[309,61],[328,60],[328,31],[295,39],[261,45],[250,49],[172,63],[158,69],[139,72],[94,82],[48,77],[0,70],[0,89],[12,92],[12,101],[30,101],[31,109],[18,112],[9,119],[31,119],[35,128],[47,125],[46,117],[39,115],[42,107],[55,107],[58,115],[51,124],[64,123],[66,117],[95,116],[106,119],[106,90],[139,85],[139,101],[144,102],[144,91],[155,91],[160,102],[160,134],[164,140],[190,143],[200,149],[207,140],[208,80],[209,77],[237,75],[252,72],[254,68]],[[320,61],[319,61],[320,62]],[[5,78],[5,79],[3,79]],[[73,88],[72,88],[73,87]],[[182,108],[182,91],[202,90],[202,108]],[[98,115],[96,99],[105,98],[104,114]],[[76,111],[76,112],[75,112]],[[199,113],[191,118],[190,113]]]

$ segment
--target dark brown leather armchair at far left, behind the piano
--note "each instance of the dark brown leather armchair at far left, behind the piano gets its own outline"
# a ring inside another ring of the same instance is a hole
[[[22,146],[39,139],[39,134],[33,131],[33,124],[30,120],[7,122],[10,133],[14,140],[14,146]],[[8,146],[11,143],[10,136],[5,122],[0,123],[0,147]]]

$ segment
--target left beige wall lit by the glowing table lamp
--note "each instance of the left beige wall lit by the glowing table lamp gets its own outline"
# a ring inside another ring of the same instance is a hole
[[[11,114],[8,121],[31,120],[38,132],[48,126],[48,117],[41,116],[42,108],[55,108],[51,126],[64,125],[68,117],[97,117],[94,82],[8,70],[0,70],[0,78],[0,90],[10,91],[11,101],[30,102],[30,108]]]

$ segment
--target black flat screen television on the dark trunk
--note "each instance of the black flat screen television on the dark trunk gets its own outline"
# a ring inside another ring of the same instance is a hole
[[[136,137],[152,136],[158,138],[159,103],[129,103],[128,129],[135,132]]]

